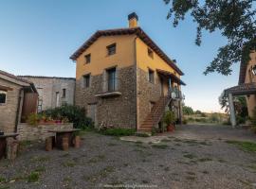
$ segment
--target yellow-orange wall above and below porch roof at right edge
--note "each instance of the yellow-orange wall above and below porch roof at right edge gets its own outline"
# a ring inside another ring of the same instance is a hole
[[[251,74],[249,70],[252,65],[256,64],[256,52],[250,54],[250,61],[247,64],[247,75],[245,83],[256,82],[256,76]],[[249,116],[252,116],[253,109],[256,107],[256,95],[250,95],[247,97],[247,108]]]

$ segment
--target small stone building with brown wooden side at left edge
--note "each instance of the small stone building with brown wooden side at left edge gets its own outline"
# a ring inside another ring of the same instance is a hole
[[[0,130],[16,132],[22,118],[36,112],[37,97],[32,82],[0,70]]]

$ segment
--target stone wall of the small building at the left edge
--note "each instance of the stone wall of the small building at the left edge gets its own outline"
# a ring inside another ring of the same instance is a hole
[[[0,78],[0,85],[12,88],[12,91],[7,92],[6,104],[0,105],[0,130],[3,130],[5,132],[14,132],[18,98],[19,98],[20,89],[22,87],[1,78]],[[23,99],[21,99],[21,107],[22,107],[22,102],[23,102]],[[20,112],[21,110],[22,109],[20,108]]]

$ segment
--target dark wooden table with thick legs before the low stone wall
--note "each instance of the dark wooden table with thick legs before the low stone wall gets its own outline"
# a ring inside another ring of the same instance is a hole
[[[53,129],[48,130],[49,132],[54,132],[56,134],[55,146],[60,149],[64,149],[63,139],[68,138],[68,146],[72,146],[72,135],[74,132],[80,131],[81,129]]]

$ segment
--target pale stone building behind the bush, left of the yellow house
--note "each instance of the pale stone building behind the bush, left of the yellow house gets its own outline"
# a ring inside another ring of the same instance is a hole
[[[38,112],[61,106],[63,103],[74,104],[75,78],[72,77],[37,77],[21,76],[34,83],[38,94]]]

